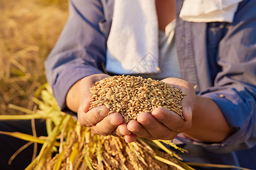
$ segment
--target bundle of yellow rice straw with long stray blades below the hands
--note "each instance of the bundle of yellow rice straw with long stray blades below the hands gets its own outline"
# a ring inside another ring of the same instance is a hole
[[[43,101],[32,99],[39,105],[38,109],[30,111],[15,107],[27,114],[0,115],[0,120],[33,120],[34,118],[46,120],[47,137],[0,131],[0,134],[24,139],[29,141],[28,143],[43,144],[39,155],[26,169],[193,169],[189,165],[194,165],[248,170],[233,165],[181,162],[181,158],[163,143],[176,148],[177,152],[185,150],[170,141],[148,141],[138,138],[137,141],[128,144],[120,137],[95,135],[89,128],[81,126],[71,116],[61,112],[51,88],[48,84],[44,87],[46,90],[41,92]],[[53,156],[53,152],[57,154]]]

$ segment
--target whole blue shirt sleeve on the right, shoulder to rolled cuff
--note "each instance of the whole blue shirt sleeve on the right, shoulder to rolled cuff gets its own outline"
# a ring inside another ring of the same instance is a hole
[[[227,24],[225,36],[218,45],[217,63],[221,71],[214,80],[214,87],[200,94],[216,102],[234,131],[224,142],[206,146],[214,152],[256,145],[255,11],[255,1],[240,4],[234,22]]]

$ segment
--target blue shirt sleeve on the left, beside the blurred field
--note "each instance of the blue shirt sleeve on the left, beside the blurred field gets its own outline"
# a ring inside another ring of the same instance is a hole
[[[85,76],[103,73],[106,37],[100,1],[69,1],[69,19],[46,59],[46,75],[61,110],[69,88]],[[53,25],[54,27],[54,25]]]

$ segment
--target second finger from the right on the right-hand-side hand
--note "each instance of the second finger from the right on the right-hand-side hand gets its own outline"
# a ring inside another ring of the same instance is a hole
[[[174,139],[177,135],[176,131],[168,129],[167,126],[156,120],[150,113],[142,112],[137,120],[154,139]]]

